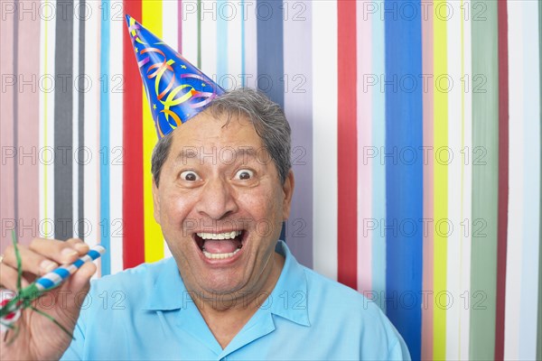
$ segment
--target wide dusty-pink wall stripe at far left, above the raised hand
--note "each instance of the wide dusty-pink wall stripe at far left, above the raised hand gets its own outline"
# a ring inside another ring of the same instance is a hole
[[[33,8],[40,6],[34,1]],[[20,17],[21,19],[21,17]],[[20,79],[31,80],[32,86],[20,84],[23,93],[19,93],[17,102],[17,128],[19,149],[24,153],[36,154],[35,157],[19,157],[18,167],[18,207],[19,241],[28,244],[33,237],[39,236],[40,223],[39,201],[39,136],[40,127],[40,19],[22,16],[18,29],[18,73]]]

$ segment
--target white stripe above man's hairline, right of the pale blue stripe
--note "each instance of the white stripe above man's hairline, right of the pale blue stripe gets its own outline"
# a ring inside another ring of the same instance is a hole
[[[241,7],[240,1],[226,1],[219,8],[219,16],[228,26],[228,73],[229,82],[226,88],[241,86]],[[221,84],[220,84],[221,85]]]

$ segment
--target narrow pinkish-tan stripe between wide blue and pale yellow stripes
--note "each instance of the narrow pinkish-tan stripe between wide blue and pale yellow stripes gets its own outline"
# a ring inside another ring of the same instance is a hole
[[[422,61],[424,74],[433,74],[433,16],[422,19]],[[433,149],[433,83],[424,89],[424,146]],[[425,148],[427,149],[427,148]],[[429,152],[429,154],[433,154]],[[433,156],[424,158],[424,218],[433,218]],[[423,290],[433,290],[433,232],[424,230]],[[433,359],[432,294],[422,307],[422,359]]]

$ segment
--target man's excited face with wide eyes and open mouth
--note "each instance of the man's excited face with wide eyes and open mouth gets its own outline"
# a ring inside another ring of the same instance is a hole
[[[257,292],[274,267],[294,187],[245,117],[202,112],[173,133],[154,218],[191,291]]]

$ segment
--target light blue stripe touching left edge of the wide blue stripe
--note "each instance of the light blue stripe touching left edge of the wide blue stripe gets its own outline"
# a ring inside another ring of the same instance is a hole
[[[372,16],[372,71],[378,79],[372,89],[372,144],[378,156],[372,167],[372,215],[378,225],[386,218],[386,164],[381,161],[381,153],[386,146],[386,95],[381,90],[385,74],[385,30],[384,18],[378,9],[384,8],[384,1],[369,2],[368,13]],[[376,8],[369,7],[375,5]],[[376,11],[376,13],[374,13]],[[372,290],[377,292],[380,309],[386,310],[384,294],[386,291],[386,236],[381,227],[375,225],[372,231]]]

